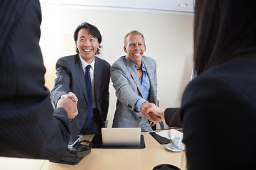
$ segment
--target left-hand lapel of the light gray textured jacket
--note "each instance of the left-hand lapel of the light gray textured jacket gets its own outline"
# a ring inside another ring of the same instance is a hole
[[[127,56],[125,56],[124,62],[125,62],[125,65],[127,66],[127,69],[129,70],[129,72],[132,76],[132,79],[134,79],[134,82],[137,85],[137,88],[139,89],[140,96],[143,97],[142,85],[140,84],[139,76],[137,74],[137,70],[134,68],[134,65],[132,64],[132,62],[130,62],[130,60],[128,59]]]

